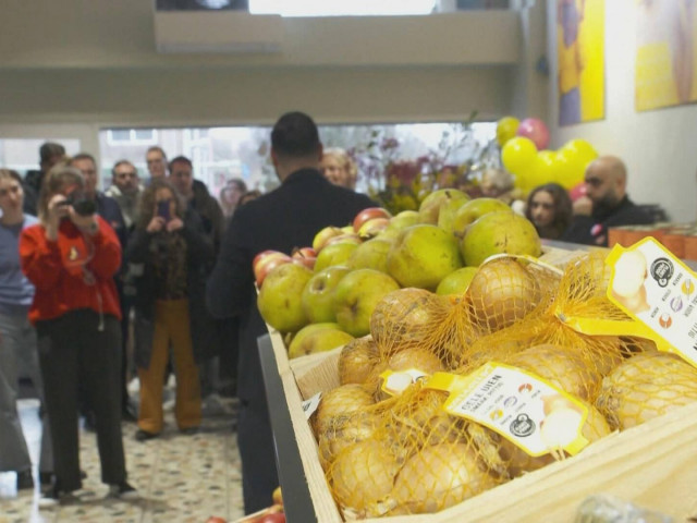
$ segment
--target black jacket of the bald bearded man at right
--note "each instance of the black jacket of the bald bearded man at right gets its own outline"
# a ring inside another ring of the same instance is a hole
[[[575,216],[560,240],[583,245],[608,246],[609,228],[651,223],[653,220],[649,214],[625,196],[620,205],[610,211],[596,212],[594,210],[592,216]]]

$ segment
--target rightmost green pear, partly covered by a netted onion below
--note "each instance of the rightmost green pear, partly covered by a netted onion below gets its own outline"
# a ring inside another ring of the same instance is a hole
[[[469,226],[460,243],[460,251],[465,265],[475,267],[494,254],[539,256],[542,245],[529,220],[510,210],[501,210],[484,215]]]

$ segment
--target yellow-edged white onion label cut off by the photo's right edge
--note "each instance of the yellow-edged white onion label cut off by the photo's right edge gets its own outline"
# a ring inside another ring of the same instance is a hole
[[[697,273],[653,238],[615,245],[607,263],[608,299],[635,319],[633,335],[697,366]]]

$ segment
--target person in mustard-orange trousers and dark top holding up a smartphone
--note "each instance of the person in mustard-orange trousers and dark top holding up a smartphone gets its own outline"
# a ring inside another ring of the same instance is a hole
[[[196,354],[215,331],[205,306],[206,267],[213,256],[212,242],[198,215],[187,210],[168,181],[154,180],[140,198],[138,221],[126,251],[127,277],[136,289],[138,441],[162,431],[162,388],[170,348],[176,375],[176,424],[183,434],[194,434],[200,424]]]

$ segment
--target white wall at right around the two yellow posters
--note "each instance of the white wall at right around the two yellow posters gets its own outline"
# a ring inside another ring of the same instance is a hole
[[[548,4],[551,147],[585,138],[601,155],[622,158],[629,196],[662,205],[675,221],[694,221],[697,170],[697,106],[638,113],[634,109],[634,0],[606,0],[606,119],[559,127],[555,1]]]

